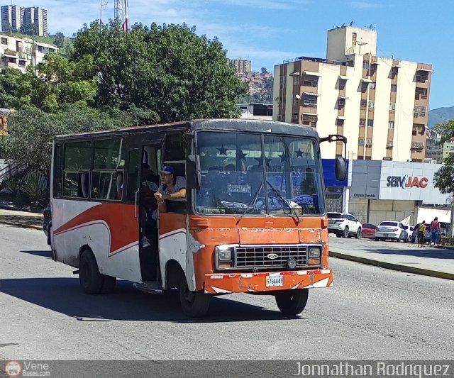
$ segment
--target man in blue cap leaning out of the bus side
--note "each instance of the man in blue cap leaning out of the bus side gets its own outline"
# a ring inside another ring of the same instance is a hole
[[[155,197],[159,211],[167,212],[166,199],[186,199],[186,180],[175,176],[175,169],[170,165],[162,167],[160,172],[162,185],[157,189]]]

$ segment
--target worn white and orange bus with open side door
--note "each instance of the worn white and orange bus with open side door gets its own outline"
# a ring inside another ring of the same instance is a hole
[[[121,278],[155,294],[178,289],[189,316],[203,316],[211,296],[239,292],[270,294],[282,313],[300,313],[309,288],[333,286],[323,141],[346,143],[238,119],[58,136],[52,258],[77,268],[87,294],[113,291]],[[141,188],[145,169],[156,177],[163,166],[185,181],[186,198],[167,199],[153,223]],[[345,173],[336,158],[336,177]]]

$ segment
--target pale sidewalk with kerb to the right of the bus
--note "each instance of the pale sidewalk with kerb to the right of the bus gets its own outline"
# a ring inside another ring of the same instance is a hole
[[[366,243],[370,245],[358,245],[359,243],[353,240],[353,243],[344,246],[335,241],[330,245],[329,255],[400,272],[454,279],[454,250],[426,245],[417,248],[411,243],[395,245],[393,242],[379,242],[380,245],[377,246],[374,246],[377,242],[373,240]]]

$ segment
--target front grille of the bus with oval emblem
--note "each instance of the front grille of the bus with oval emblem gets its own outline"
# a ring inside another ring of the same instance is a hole
[[[237,268],[280,268],[294,257],[297,267],[307,265],[306,245],[240,245],[235,248]]]

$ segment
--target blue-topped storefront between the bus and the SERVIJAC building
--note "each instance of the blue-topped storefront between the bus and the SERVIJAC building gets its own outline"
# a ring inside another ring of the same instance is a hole
[[[334,159],[322,159],[321,163],[325,180],[326,211],[343,212],[348,204],[347,179],[336,179]]]

